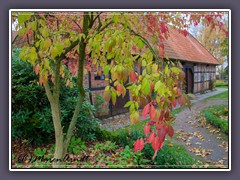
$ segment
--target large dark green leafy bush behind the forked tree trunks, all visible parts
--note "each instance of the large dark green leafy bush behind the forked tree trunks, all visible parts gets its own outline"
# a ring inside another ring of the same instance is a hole
[[[54,138],[51,108],[32,67],[18,57],[20,52],[21,49],[14,49],[12,57],[12,138],[35,145],[48,143]],[[77,89],[66,87],[64,82],[61,89],[62,125],[66,132],[77,101]],[[100,131],[99,120],[92,116],[94,112],[94,106],[84,101],[75,131],[83,140],[95,140]]]

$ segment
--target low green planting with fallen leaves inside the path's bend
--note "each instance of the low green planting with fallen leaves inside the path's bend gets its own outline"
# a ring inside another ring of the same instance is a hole
[[[228,116],[228,107],[225,105],[213,106],[202,111],[207,123],[220,128],[222,132],[228,134],[228,120],[221,119],[220,116]]]

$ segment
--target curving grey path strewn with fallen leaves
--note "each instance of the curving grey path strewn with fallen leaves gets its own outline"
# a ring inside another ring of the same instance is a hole
[[[183,144],[192,155],[203,157],[209,164],[228,165],[228,138],[210,125],[202,126],[200,111],[215,105],[227,105],[224,100],[211,99],[195,103],[191,111],[180,112],[174,129],[178,134],[177,143]]]

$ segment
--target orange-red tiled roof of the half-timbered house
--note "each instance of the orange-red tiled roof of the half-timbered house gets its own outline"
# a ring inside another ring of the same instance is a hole
[[[164,39],[165,55],[171,59],[189,62],[220,64],[191,34],[186,37],[168,26],[169,37]]]

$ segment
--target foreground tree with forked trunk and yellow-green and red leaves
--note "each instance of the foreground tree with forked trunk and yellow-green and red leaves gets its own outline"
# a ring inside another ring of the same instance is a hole
[[[55,129],[56,160],[62,160],[74,133],[77,117],[86,92],[83,87],[84,72],[95,66],[110,74],[109,85],[104,90],[106,101],[116,103],[118,96],[129,90],[131,101],[125,107],[130,109],[132,123],[140,118],[141,98],[148,103],[142,115],[150,115],[144,128],[146,142],[139,139],[135,151],[144,143],[151,143],[154,157],[161,149],[165,136],[173,136],[169,122],[174,118],[170,111],[179,103],[190,101],[181,90],[184,72],[180,63],[165,57],[164,39],[168,38],[168,23],[187,36],[186,28],[198,24],[202,18],[206,23],[219,26],[215,20],[220,13],[179,12],[14,12],[13,20],[18,22],[18,35],[27,42],[20,57],[29,62],[44,86],[51,105]],[[66,58],[76,59],[76,64]],[[141,75],[133,71],[134,64],[143,68]],[[77,82],[72,81],[73,76]],[[129,83],[126,84],[126,82]],[[59,94],[60,82],[77,86],[78,101],[67,132],[61,125]],[[154,158],[153,157],[153,158]],[[60,167],[59,162],[54,167]]]

